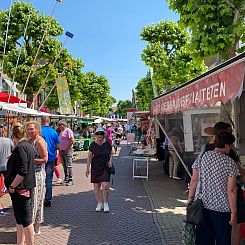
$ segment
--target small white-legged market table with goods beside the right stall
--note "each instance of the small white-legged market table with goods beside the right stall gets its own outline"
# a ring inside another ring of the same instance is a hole
[[[156,156],[156,151],[138,151],[133,148],[129,152],[129,156],[132,158],[133,162],[133,179],[135,178],[141,178],[141,179],[149,179],[149,161],[150,158],[153,158]],[[142,168],[145,168],[145,174],[137,174],[137,170],[142,170]]]

